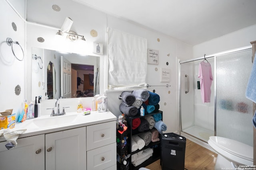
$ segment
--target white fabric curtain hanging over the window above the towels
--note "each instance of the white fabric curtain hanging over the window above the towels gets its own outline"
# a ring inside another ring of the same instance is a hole
[[[146,88],[147,39],[108,27],[108,89]]]

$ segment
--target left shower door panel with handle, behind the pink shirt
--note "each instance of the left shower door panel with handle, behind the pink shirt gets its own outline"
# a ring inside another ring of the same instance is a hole
[[[214,76],[214,57],[207,61]],[[180,118],[182,132],[188,133],[205,142],[214,136],[214,81],[211,86],[211,102],[203,103],[200,91],[198,70],[200,62],[190,61],[180,64]]]

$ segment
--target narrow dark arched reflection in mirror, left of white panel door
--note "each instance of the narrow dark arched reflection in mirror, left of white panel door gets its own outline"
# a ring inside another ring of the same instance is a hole
[[[47,95],[49,99],[54,99],[55,89],[53,86],[53,63],[50,61],[47,67]],[[55,84],[55,83],[54,83]]]

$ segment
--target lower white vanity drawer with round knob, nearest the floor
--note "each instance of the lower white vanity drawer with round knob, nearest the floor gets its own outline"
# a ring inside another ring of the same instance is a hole
[[[103,170],[116,165],[116,143],[87,151],[87,169]]]

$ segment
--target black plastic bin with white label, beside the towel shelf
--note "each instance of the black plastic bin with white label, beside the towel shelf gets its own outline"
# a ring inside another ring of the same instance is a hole
[[[184,170],[186,138],[176,133],[161,134],[162,170]]]

